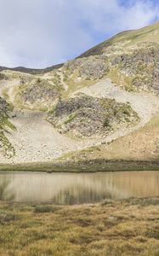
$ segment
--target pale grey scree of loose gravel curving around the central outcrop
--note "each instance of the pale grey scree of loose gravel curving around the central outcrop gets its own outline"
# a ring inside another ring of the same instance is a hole
[[[18,81],[16,81],[17,83]],[[11,92],[14,85],[15,81],[3,84],[3,89],[4,87],[9,88],[10,102],[13,101]],[[159,112],[158,97],[143,92],[127,92],[112,84],[110,79],[105,79],[88,88],[77,90],[71,96],[75,96],[78,92],[88,96],[115,98],[117,102],[130,102],[133,109],[139,114],[139,124],[122,128],[108,137],[75,141],[55,131],[54,127],[45,120],[45,113],[15,109],[14,118],[11,121],[16,126],[17,131],[12,131],[7,137],[9,137],[9,141],[14,145],[16,155],[11,160],[6,160],[3,156],[0,156],[0,161],[2,163],[18,163],[53,160],[73,150],[87,148],[101,142],[110,142],[117,137],[123,137],[144,126],[154,114]]]

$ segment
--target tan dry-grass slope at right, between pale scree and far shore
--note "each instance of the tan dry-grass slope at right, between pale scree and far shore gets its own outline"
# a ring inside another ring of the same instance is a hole
[[[159,115],[153,117],[149,123],[138,131],[133,131],[125,137],[119,137],[111,143],[98,146],[98,150],[82,150],[72,152],[70,160],[105,159],[105,160],[159,160],[156,151],[159,134]],[[96,147],[97,148],[97,147]]]

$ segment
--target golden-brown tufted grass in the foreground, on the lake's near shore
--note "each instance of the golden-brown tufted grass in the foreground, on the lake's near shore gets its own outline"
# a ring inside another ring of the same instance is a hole
[[[96,205],[0,204],[3,256],[157,256],[159,198]]]

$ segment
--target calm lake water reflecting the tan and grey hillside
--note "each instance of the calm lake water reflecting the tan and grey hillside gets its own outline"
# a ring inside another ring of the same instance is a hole
[[[72,205],[156,195],[159,195],[159,171],[0,172],[0,201]]]

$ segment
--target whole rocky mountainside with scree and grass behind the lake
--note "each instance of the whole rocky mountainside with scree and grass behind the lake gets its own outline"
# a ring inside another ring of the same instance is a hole
[[[1,169],[158,169],[159,23],[54,67],[0,67],[0,121]]]

